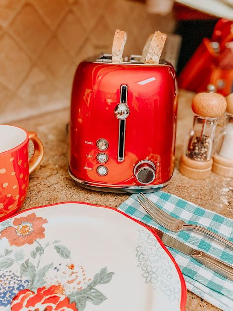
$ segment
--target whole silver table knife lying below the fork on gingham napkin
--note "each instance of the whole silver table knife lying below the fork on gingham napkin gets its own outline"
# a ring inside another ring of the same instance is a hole
[[[220,259],[214,258],[203,251],[193,249],[190,246],[176,240],[175,238],[170,237],[168,234],[151,227],[146,224],[148,228],[152,231],[157,233],[157,235],[162,240],[163,244],[169,246],[170,248],[176,249],[193,259],[199,261],[205,267],[209,268],[210,270],[217,272],[221,276],[228,278],[229,280],[233,281],[233,266],[223,262]]]

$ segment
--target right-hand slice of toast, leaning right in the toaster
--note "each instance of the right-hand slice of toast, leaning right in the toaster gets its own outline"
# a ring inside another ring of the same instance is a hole
[[[167,35],[159,31],[156,31],[154,35],[151,35],[143,48],[141,62],[157,65],[159,63],[166,38]]]

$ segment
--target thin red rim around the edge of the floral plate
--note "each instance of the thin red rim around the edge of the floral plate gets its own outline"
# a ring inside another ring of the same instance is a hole
[[[30,210],[34,210],[34,209],[39,209],[39,208],[43,208],[43,207],[53,207],[56,205],[61,205],[61,204],[72,204],[72,203],[77,203],[77,204],[85,204],[85,205],[90,205],[90,206],[95,206],[95,207],[102,207],[102,208],[107,208],[113,211],[116,211],[124,216],[126,216],[127,218],[133,220],[134,222],[140,224],[141,226],[145,227],[147,230],[149,230],[151,233],[153,233],[153,235],[155,236],[156,240],[159,242],[159,244],[161,245],[161,247],[165,250],[165,252],[168,254],[168,256],[171,258],[173,264],[175,265],[175,268],[178,272],[179,278],[180,278],[180,282],[181,282],[181,299],[180,299],[180,311],[186,311],[185,305],[186,305],[186,300],[187,300],[187,288],[186,288],[186,284],[185,284],[185,280],[183,277],[183,274],[178,266],[178,264],[176,263],[175,259],[173,258],[173,256],[171,255],[171,253],[169,252],[169,250],[166,248],[166,246],[163,244],[162,240],[160,239],[160,237],[157,235],[156,232],[154,232],[152,229],[150,229],[146,224],[140,222],[137,219],[132,218],[131,216],[127,215],[126,213],[117,210],[117,208],[114,207],[110,207],[110,206],[104,206],[104,205],[99,205],[99,204],[92,204],[92,203],[87,203],[87,202],[80,202],[80,201],[66,201],[66,202],[59,202],[59,203],[52,203],[52,204],[47,204],[47,205],[41,205],[41,206],[35,206],[35,207],[31,207],[29,209],[25,209],[22,210],[14,215],[11,215],[7,218],[4,218],[3,220],[0,221],[4,222],[7,219],[13,218],[15,216],[18,216],[19,214],[22,214],[24,212],[28,212]]]

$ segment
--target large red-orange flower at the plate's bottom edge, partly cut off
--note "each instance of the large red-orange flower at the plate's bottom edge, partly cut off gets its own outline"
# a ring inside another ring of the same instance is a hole
[[[11,311],[78,311],[75,303],[70,303],[63,294],[62,286],[37,289],[37,293],[20,290],[11,302]]]

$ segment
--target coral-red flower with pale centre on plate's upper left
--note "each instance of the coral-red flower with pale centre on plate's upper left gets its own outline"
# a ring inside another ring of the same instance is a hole
[[[15,246],[33,244],[36,239],[45,237],[42,225],[47,222],[47,219],[37,217],[35,213],[15,218],[13,226],[1,231],[0,238],[7,238],[10,245]]]

